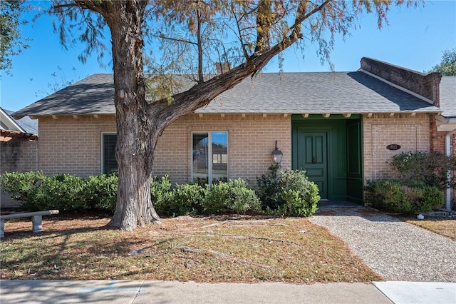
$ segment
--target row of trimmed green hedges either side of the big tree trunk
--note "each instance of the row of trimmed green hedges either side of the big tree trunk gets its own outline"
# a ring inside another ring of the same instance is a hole
[[[162,216],[250,211],[311,216],[316,212],[320,199],[318,188],[307,179],[305,171],[279,173],[278,167],[272,166],[268,174],[258,178],[258,184],[258,193],[241,178],[212,185],[172,186],[170,178],[163,176],[152,178],[150,196],[157,213]],[[0,176],[0,185],[12,198],[22,201],[22,208],[27,211],[58,209],[113,213],[118,177],[102,174],[85,179],[68,174],[46,176],[31,171],[4,173]]]

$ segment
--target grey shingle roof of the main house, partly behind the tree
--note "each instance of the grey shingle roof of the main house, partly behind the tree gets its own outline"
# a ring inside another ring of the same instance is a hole
[[[187,83],[190,84],[190,83]],[[94,74],[14,116],[115,113],[113,74]],[[440,109],[362,71],[265,73],[225,91],[197,113],[390,113]]]

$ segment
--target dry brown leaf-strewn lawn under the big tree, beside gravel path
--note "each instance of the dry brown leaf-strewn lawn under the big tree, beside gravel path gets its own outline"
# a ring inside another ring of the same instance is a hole
[[[2,279],[289,283],[380,280],[339,238],[305,218],[168,218],[132,233],[108,218],[6,222]]]

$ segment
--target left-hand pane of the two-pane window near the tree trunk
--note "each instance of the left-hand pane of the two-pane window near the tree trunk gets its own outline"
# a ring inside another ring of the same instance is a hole
[[[193,180],[204,179],[207,183],[209,177],[209,136],[207,133],[193,133],[192,157]]]

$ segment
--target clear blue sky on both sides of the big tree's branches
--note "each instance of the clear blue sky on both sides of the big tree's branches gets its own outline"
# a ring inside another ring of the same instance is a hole
[[[456,48],[456,0],[426,1],[424,7],[407,9],[392,7],[389,26],[378,30],[375,15],[365,15],[360,29],[351,36],[336,40],[331,61],[336,71],[356,71],[361,57],[367,56],[415,71],[425,71],[438,64],[442,51]],[[96,56],[86,64],[78,61],[77,46],[64,50],[58,35],[52,31],[51,19],[38,19],[22,29],[31,37],[30,48],[14,57],[11,76],[1,75],[0,105],[17,111],[48,93],[48,85],[80,80],[95,73],[112,73],[110,66],[102,68]],[[278,71],[276,60],[266,66],[266,72]],[[316,46],[308,46],[304,60],[300,51],[286,51],[285,72],[330,71],[321,65]],[[56,75],[56,76],[53,76]]]

